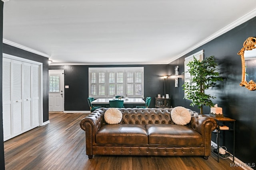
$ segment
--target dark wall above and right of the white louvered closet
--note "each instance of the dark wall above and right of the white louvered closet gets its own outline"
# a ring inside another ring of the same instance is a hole
[[[40,63],[43,63],[43,122],[49,120],[49,113],[48,113],[48,79],[49,79],[49,74],[48,74],[48,58],[47,57],[42,57],[40,55],[30,53],[28,51],[13,47],[8,44],[3,44],[3,53],[21,57],[24,59],[32,60],[32,61],[37,61]]]

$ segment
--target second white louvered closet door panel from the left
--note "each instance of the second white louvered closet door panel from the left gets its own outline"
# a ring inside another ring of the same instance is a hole
[[[12,62],[13,136],[22,133],[22,62]]]

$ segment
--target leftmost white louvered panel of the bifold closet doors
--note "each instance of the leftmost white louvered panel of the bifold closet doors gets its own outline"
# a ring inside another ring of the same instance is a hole
[[[4,141],[12,137],[12,115],[11,115],[11,59],[3,58],[3,129]]]

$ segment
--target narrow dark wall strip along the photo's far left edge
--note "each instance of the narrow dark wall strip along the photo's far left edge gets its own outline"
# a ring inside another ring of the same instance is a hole
[[[3,58],[3,7],[0,1],[0,169],[4,170],[4,134],[3,134],[3,106],[2,106],[2,58]]]

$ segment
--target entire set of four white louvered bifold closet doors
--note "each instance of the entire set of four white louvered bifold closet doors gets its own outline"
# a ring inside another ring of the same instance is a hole
[[[6,55],[6,54],[5,54]],[[7,55],[7,57],[10,57]],[[18,57],[16,57],[18,58]],[[3,130],[4,141],[40,125],[42,66],[33,61],[3,57]]]

